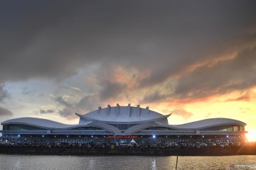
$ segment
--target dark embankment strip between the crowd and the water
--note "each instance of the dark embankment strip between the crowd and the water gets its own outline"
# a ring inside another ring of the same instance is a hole
[[[0,154],[30,155],[144,155],[144,156],[225,156],[256,155],[256,147],[223,148],[45,148],[0,147]]]

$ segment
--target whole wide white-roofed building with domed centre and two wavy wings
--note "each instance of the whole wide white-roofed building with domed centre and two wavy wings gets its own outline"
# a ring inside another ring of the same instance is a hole
[[[14,118],[3,125],[1,140],[8,142],[245,142],[245,123],[229,118],[209,118],[169,125],[168,117],[128,106],[99,107],[80,115],[77,125],[41,118]]]

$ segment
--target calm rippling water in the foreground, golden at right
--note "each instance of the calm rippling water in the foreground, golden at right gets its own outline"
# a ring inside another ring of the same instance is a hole
[[[0,154],[0,169],[175,169],[176,157],[78,157]],[[178,169],[256,169],[256,156],[178,157]]]

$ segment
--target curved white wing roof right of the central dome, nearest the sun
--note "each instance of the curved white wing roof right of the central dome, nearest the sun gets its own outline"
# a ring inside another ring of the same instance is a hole
[[[171,125],[171,127],[178,129],[203,129],[219,125],[246,125],[246,123],[230,118],[209,118],[191,123],[185,123],[182,125]]]

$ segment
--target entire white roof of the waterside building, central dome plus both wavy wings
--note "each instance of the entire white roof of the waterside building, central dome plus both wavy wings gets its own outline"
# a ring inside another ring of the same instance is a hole
[[[78,113],[76,114],[79,115]],[[139,106],[119,106],[117,104],[117,106],[114,107],[99,107],[97,111],[92,111],[85,115],[79,115],[80,123],[77,125],[66,125],[63,123],[58,123],[52,120],[42,118],[14,118],[4,121],[3,123],[1,123],[1,125],[21,124],[52,130],[71,129],[82,126],[97,126],[113,132],[117,131],[118,129],[110,124],[118,123],[139,124],[134,125],[132,128],[128,129],[127,132],[143,130],[145,128],[149,128],[150,126],[164,126],[176,130],[203,130],[206,128],[225,125],[246,125],[246,123],[243,123],[242,121],[230,118],[210,118],[205,120],[198,120],[191,123],[185,123],[182,125],[169,125],[167,120],[167,117],[169,117],[169,115],[162,115],[160,113],[150,111],[149,107],[140,108]]]

